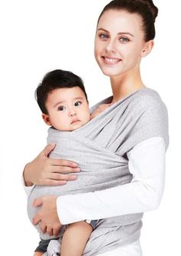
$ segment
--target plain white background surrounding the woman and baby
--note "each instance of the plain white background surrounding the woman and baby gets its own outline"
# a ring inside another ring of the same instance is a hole
[[[21,172],[46,144],[47,127],[34,91],[54,68],[84,79],[91,105],[110,95],[109,79],[94,60],[97,17],[109,1],[6,0],[0,3],[0,254],[31,256],[38,234],[28,221]],[[178,255],[180,249],[180,8],[179,0],[155,0],[153,52],[143,59],[146,86],[169,111],[166,187],[156,211],[143,218],[144,256]]]

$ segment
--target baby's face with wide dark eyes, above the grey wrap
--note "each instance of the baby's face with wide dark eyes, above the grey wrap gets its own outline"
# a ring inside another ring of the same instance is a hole
[[[84,91],[79,87],[58,88],[48,94],[48,115],[42,118],[61,131],[74,131],[90,120],[90,111]]]

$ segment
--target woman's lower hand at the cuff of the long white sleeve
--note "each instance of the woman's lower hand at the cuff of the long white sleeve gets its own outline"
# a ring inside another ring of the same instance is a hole
[[[33,224],[39,224],[42,233],[58,236],[61,230],[61,221],[58,218],[56,200],[54,195],[35,199],[33,206],[41,206],[41,209],[33,218]]]

